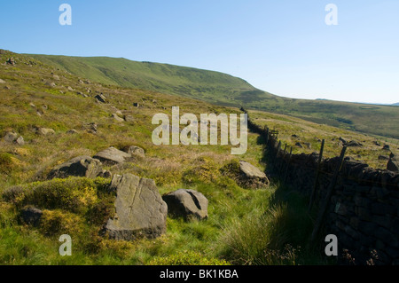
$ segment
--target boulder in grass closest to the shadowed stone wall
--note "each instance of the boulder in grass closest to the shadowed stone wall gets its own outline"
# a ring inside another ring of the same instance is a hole
[[[239,161],[239,171],[240,185],[250,188],[261,188],[270,184],[266,174],[246,161]]]

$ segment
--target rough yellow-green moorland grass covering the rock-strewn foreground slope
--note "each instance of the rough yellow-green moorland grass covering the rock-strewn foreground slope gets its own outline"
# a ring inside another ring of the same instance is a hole
[[[8,86],[0,89],[1,264],[329,263],[320,255],[324,248],[308,247],[312,216],[304,211],[306,200],[278,184],[247,190],[233,175],[225,174],[225,169],[234,169],[231,164],[239,160],[267,169],[270,164],[262,160],[263,145],[257,135],[249,133],[248,150],[239,157],[231,155],[230,145],[153,145],[153,114],[170,115],[172,106],[180,106],[181,114],[198,117],[201,113],[239,113],[237,108],[152,90],[84,83],[85,79],[80,83],[78,77],[38,59],[12,53],[0,54],[0,59],[10,56],[17,65],[0,66],[0,78]],[[56,86],[47,86],[42,80],[54,81]],[[103,93],[108,103],[96,102],[97,93]],[[135,107],[133,102],[142,106]],[[134,122],[115,122],[111,115],[116,109],[132,115]],[[301,130],[304,141],[317,132],[325,138],[354,135],[277,114],[251,113],[251,118],[270,126],[275,123],[287,141]],[[92,122],[98,125],[97,133],[90,131]],[[51,128],[55,134],[39,136],[37,127]],[[77,133],[67,132],[72,129]],[[5,143],[7,131],[23,136],[25,145]],[[367,137],[358,134],[356,139]],[[64,161],[92,156],[111,145],[138,145],[145,149],[146,157],[106,169],[153,178],[161,194],[178,188],[197,190],[209,200],[208,219],[184,222],[168,218],[166,234],[156,240],[126,242],[100,236],[102,225],[113,214],[113,195],[104,190],[109,179],[49,181],[46,177]],[[312,149],[317,149],[316,142]],[[20,210],[28,205],[43,210],[40,226],[20,221]],[[59,256],[59,232],[73,235],[72,256]]]

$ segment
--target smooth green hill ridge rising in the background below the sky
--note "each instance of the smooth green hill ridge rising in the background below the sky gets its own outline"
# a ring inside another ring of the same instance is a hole
[[[245,106],[341,129],[399,138],[398,106],[282,98],[257,90],[231,75],[191,67],[105,57],[30,56],[94,82],[155,90],[223,106]]]

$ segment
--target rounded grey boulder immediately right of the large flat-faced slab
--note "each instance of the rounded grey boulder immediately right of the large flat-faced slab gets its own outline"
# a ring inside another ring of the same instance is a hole
[[[207,219],[207,198],[194,190],[179,189],[162,196],[168,205],[168,214],[185,220]]]

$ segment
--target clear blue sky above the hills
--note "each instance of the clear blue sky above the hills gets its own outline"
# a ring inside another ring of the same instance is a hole
[[[72,26],[59,25],[59,5]],[[325,24],[326,4],[338,26]],[[239,76],[290,98],[399,102],[398,0],[2,1],[0,48]]]

